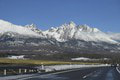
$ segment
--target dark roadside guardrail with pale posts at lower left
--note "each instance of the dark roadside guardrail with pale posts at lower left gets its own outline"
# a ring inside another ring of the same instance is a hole
[[[0,66],[0,75],[17,75],[17,74],[29,74],[37,73],[38,69],[30,66]]]

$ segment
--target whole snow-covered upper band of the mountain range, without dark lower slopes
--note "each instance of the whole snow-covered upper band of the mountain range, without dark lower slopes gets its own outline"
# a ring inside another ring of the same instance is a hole
[[[88,25],[76,25],[74,22],[63,24],[57,28],[52,27],[49,30],[42,31],[37,29],[34,24],[19,26],[4,20],[0,20],[0,35],[6,32],[9,32],[10,34],[17,33],[20,35],[36,36],[46,39],[53,38],[59,42],[75,39],[84,41],[117,43],[113,37],[100,31],[97,28],[91,28]]]

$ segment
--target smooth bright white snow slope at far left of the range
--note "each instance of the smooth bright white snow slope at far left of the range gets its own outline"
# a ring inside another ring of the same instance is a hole
[[[35,33],[34,31],[26,27],[14,25],[10,22],[0,20],[0,33],[3,34],[5,32],[15,32],[21,35],[29,35],[29,36],[40,36],[39,34]]]

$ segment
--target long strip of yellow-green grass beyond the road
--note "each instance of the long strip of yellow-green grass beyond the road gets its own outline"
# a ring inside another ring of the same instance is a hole
[[[86,64],[87,65],[87,64],[99,64],[99,63],[0,58],[0,64],[18,64],[18,65],[19,64],[24,64],[24,65]]]

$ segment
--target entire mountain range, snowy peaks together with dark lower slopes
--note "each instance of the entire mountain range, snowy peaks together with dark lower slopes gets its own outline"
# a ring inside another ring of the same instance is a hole
[[[0,45],[0,52],[18,54],[119,53],[120,38],[118,33],[74,22],[42,31],[34,24],[19,26],[0,20]]]

